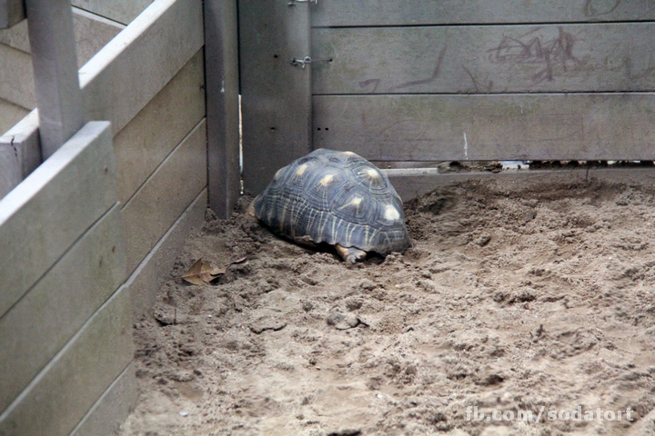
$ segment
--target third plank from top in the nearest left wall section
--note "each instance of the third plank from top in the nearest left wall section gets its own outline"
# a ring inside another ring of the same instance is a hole
[[[0,414],[0,434],[67,436],[133,357],[122,286]],[[101,346],[100,346],[101,345]]]

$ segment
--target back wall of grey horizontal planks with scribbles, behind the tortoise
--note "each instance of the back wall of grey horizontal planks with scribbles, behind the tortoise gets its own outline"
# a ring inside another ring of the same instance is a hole
[[[313,147],[377,161],[652,160],[646,0],[312,5]]]

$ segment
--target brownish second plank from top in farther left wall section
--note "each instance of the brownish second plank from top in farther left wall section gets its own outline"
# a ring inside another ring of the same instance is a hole
[[[127,203],[205,116],[204,73],[203,51],[199,50],[114,137],[119,202]]]

